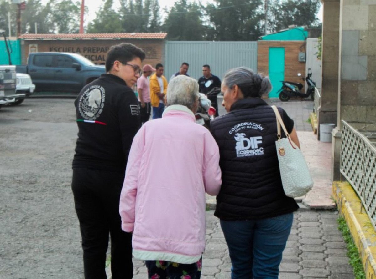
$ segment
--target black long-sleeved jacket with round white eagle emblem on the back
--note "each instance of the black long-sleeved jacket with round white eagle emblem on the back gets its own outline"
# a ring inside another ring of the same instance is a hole
[[[74,104],[79,131],[73,168],[125,172],[140,127],[133,90],[120,77],[102,74],[83,87]]]

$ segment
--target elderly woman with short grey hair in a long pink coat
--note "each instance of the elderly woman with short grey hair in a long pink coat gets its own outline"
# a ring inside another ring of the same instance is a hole
[[[195,122],[198,89],[185,75],[171,80],[162,118],[146,122],[130,149],[121,227],[153,279],[201,276],[205,193],[218,194],[221,170],[217,143]]]

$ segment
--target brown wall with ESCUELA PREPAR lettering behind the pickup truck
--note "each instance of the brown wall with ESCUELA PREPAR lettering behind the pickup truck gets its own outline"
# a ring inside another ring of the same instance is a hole
[[[29,52],[73,52],[80,53],[96,64],[104,65],[106,53],[112,45],[129,42],[142,48],[146,53],[143,64],[164,61],[164,40],[153,39],[61,39],[61,40],[22,40],[22,64],[27,63]]]

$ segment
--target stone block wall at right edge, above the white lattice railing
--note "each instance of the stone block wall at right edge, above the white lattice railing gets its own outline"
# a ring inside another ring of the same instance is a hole
[[[339,117],[376,130],[376,1],[343,0]]]

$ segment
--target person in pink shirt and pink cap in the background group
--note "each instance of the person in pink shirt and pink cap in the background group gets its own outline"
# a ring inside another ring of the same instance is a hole
[[[150,77],[155,69],[146,64],[142,68],[143,74],[137,80],[138,101],[140,105],[140,120],[144,124],[150,118],[150,85],[147,77]]]

